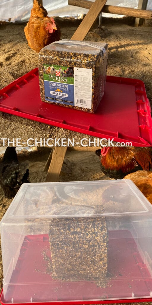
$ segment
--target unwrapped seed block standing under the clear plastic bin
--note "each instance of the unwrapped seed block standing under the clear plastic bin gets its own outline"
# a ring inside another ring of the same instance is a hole
[[[95,207],[95,213],[103,211],[102,206]],[[108,234],[105,217],[52,218],[49,242],[52,278],[95,281],[102,285],[107,274]]]

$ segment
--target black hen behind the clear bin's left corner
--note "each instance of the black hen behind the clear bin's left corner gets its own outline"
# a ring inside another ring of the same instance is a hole
[[[0,163],[0,185],[7,198],[16,195],[23,183],[29,182],[29,162],[19,163],[15,147],[7,147]]]

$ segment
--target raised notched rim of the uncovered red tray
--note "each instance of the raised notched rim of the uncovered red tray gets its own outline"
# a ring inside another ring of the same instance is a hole
[[[28,77],[31,74],[34,75],[35,73],[38,73],[38,68],[34,68],[33,70],[29,71],[25,75],[23,75],[23,76],[17,78],[16,80],[12,81],[6,87],[2,88],[0,90],[0,93],[5,93],[10,88],[10,86],[16,85],[18,83],[18,81],[24,79],[25,77]],[[114,83],[120,83],[120,84],[123,84],[123,83],[125,84],[126,80],[128,81],[129,84],[132,84],[132,85],[135,84],[135,83],[141,84],[141,86],[144,88],[144,94],[147,98],[144,82],[139,80],[139,79],[126,78],[126,77],[116,77],[116,76],[108,76],[107,75],[107,80],[108,80],[108,82],[114,82]],[[147,125],[145,125],[145,127],[149,128],[150,134],[152,134],[152,118],[151,118],[151,114],[150,114],[151,113],[151,107],[150,107],[150,102],[149,102],[148,98],[147,98],[147,106],[148,106],[147,107],[147,110],[148,110],[147,112],[148,112],[148,116],[150,118],[150,123],[151,124],[150,124],[150,127],[148,127]],[[83,134],[86,134],[86,135],[94,136],[94,137],[97,137],[97,138],[109,138],[110,140],[113,139],[113,141],[120,142],[120,143],[121,142],[131,142],[132,145],[134,145],[134,146],[142,146],[142,147],[152,146],[152,143],[147,142],[144,138],[140,138],[139,136],[137,138],[132,137],[132,140],[131,139],[130,140],[124,140],[123,138],[119,137],[119,133],[116,136],[106,135],[104,133],[100,133],[100,132],[97,132],[97,131],[91,131],[89,129],[87,130],[87,129],[75,127],[75,126],[72,126],[72,125],[69,125],[69,124],[65,124],[64,122],[62,122],[62,123],[56,122],[54,120],[46,119],[46,118],[39,117],[39,116],[36,116],[36,115],[33,115],[33,114],[27,114],[26,112],[17,111],[16,109],[9,109],[7,107],[5,108],[5,107],[0,106],[0,111],[5,112],[5,113],[9,113],[9,114],[12,114],[12,115],[16,115],[18,117],[23,117],[23,118],[26,118],[26,119],[34,120],[34,121],[37,121],[37,122],[40,122],[40,123],[53,125],[53,126],[68,129],[68,130],[71,130],[71,131],[76,131],[78,133],[83,133]],[[78,111],[78,110],[73,109],[72,111]]]

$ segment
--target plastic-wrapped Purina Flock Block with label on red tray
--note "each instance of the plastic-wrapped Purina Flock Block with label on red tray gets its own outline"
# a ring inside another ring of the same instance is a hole
[[[43,102],[94,113],[104,94],[108,46],[63,39],[39,53]]]

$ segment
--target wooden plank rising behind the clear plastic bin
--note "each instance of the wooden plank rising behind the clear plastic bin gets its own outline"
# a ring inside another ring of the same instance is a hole
[[[67,147],[55,147],[49,170],[47,172],[46,182],[58,181],[66,151]]]

